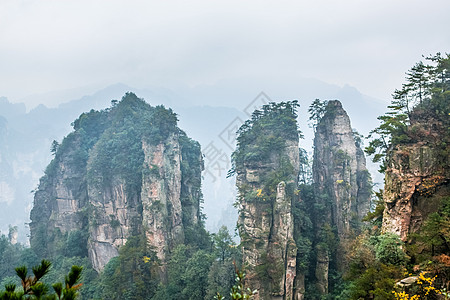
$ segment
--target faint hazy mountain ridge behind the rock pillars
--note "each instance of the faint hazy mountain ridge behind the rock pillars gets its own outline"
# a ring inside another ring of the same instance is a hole
[[[385,110],[384,102],[365,96],[355,88],[339,87],[314,79],[302,79],[297,84],[286,83],[280,87],[268,84],[265,87],[267,89],[264,92],[268,96],[266,101],[294,98],[299,100],[299,125],[305,135],[300,146],[306,149],[312,147],[313,138],[312,130],[308,127],[307,109],[315,98],[339,99],[346,107],[355,128],[363,134],[378,125],[376,117]],[[119,83],[61,103],[58,107],[39,105],[29,112],[25,104],[10,103],[5,97],[0,97],[0,116],[7,122],[2,127],[3,145],[0,145],[0,157],[3,159],[0,161],[0,186],[4,191],[3,197],[0,198],[2,232],[7,232],[8,224],[18,225],[19,239],[25,241],[27,230],[24,223],[28,222],[32,202],[30,191],[36,188],[39,177],[51,160],[51,142],[61,141],[62,137],[72,130],[72,120],[81,113],[108,107],[111,100],[120,99],[128,91],[135,92],[152,105],[164,104],[172,107],[178,114],[180,127],[198,140],[202,149],[208,149],[209,145],[209,148],[215,147],[220,151],[223,162],[218,165],[217,161],[214,161],[215,165],[211,164],[211,168],[203,175],[204,212],[209,217],[206,225],[209,230],[219,228],[224,222],[228,222],[226,224],[229,227],[234,227],[237,215],[222,216],[223,212],[234,210],[231,203],[235,193],[233,180],[225,178],[234,147],[229,144],[234,141],[231,137],[230,143],[225,143],[223,134],[226,130],[231,130],[232,133],[232,126],[248,117],[245,108],[255,100],[260,100],[256,98],[261,92],[261,85],[252,80],[245,82],[245,79],[239,82],[223,81],[210,86],[181,87],[176,90],[136,89]],[[56,100],[52,101],[54,103]]]

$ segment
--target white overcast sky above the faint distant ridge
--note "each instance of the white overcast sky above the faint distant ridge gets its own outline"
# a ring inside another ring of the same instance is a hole
[[[386,99],[450,51],[449,16],[449,0],[0,0],[0,96],[316,78]]]

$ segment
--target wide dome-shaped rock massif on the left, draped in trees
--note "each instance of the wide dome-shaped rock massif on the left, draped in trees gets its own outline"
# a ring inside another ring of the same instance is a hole
[[[35,194],[32,247],[52,256],[74,241],[100,271],[130,236],[145,234],[164,275],[167,254],[201,222],[199,144],[171,110],[130,93],[74,128]]]

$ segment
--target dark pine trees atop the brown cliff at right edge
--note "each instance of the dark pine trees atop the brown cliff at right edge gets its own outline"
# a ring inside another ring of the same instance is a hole
[[[372,140],[365,151],[381,163],[381,172],[386,168],[388,149],[417,141],[417,127],[412,125],[423,118],[420,115],[442,122],[443,133],[450,133],[450,54],[438,53],[427,60],[431,64],[419,62],[406,73],[406,83],[394,92],[390,111],[378,117],[380,126],[369,134]]]

